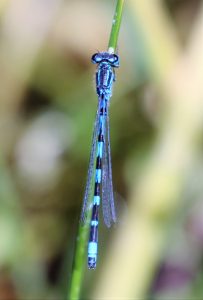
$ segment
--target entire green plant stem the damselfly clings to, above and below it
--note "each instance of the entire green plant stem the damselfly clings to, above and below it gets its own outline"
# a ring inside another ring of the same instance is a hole
[[[124,0],[117,0],[116,10],[113,17],[111,34],[109,38],[108,48],[113,53],[117,47],[118,34],[121,24],[122,10]],[[86,262],[86,245],[89,238],[89,224],[91,218],[91,209],[88,212],[85,225],[80,224],[77,235],[77,243],[75,257],[73,263],[73,271],[70,283],[70,291],[68,299],[77,300],[80,298],[80,290],[83,279],[84,265]]]

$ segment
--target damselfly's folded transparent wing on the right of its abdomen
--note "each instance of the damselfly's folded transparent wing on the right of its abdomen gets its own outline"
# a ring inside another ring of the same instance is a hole
[[[111,148],[108,103],[106,104],[106,120],[104,126],[104,147],[102,161],[102,210],[104,223],[107,227],[112,222],[116,222],[116,211],[114,205],[112,168],[111,168]]]

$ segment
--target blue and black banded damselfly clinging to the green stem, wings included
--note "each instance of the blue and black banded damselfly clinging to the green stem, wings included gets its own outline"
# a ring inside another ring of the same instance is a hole
[[[111,168],[109,103],[112,96],[112,85],[115,81],[114,68],[119,67],[119,56],[109,52],[95,53],[92,56],[92,63],[97,64],[98,107],[81,213],[83,222],[85,222],[90,209],[92,213],[88,242],[89,269],[95,269],[97,264],[100,202],[102,202],[106,226],[110,227],[112,223],[116,222]]]

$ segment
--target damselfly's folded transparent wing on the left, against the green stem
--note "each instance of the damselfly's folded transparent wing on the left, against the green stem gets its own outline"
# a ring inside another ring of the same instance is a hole
[[[81,211],[81,222],[85,223],[87,217],[87,211],[91,208],[90,196],[92,194],[93,188],[93,180],[94,180],[94,169],[95,169],[95,161],[96,161],[96,148],[97,148],[97,136],[98,136],[98,128],[99,128],[99,112],[100,112],[100,105],[97,107],[95,122],[94,122],[94,129],[93,129],[93,136],[92,136],[92,147],[90,152],[90,159],[89,159],[89,166],[88,166],[88,173],[87,173],[87,183],[85,187],[85,193],[83,197],[83,206]]]

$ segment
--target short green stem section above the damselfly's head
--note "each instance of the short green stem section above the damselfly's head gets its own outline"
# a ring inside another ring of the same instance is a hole
[[[122,13],[123,13],[123,4],[124,0],[118,0],[116,4],[116,10],[113,17],[111,34],[109,38],[108,48],[111,49],[111,52],[115,52],[118,41],[118,34],[121,25]]]

